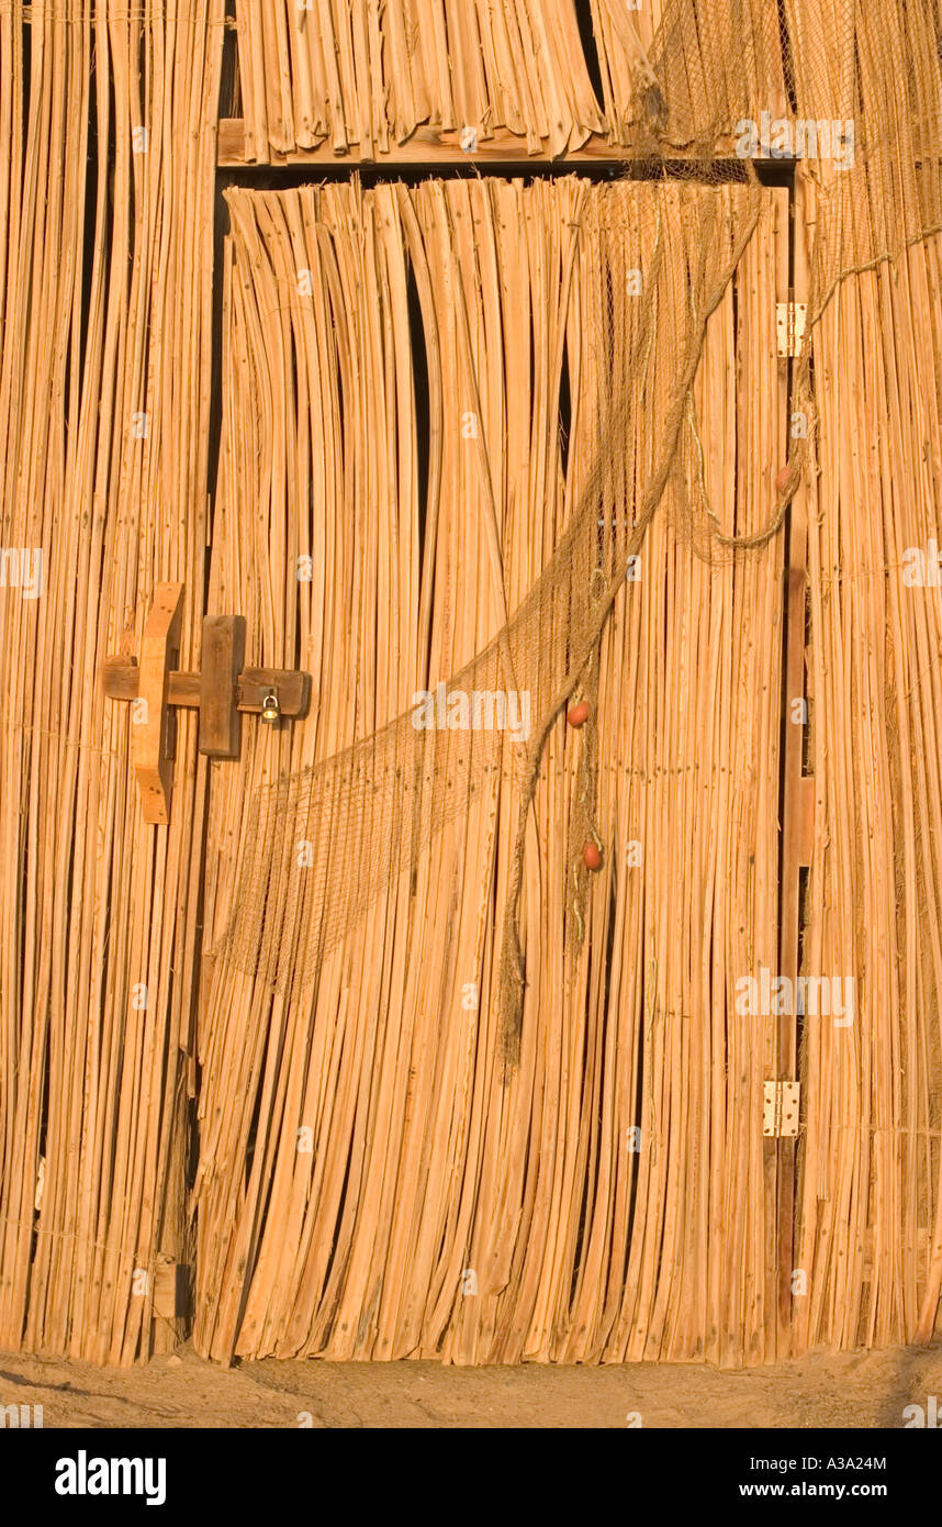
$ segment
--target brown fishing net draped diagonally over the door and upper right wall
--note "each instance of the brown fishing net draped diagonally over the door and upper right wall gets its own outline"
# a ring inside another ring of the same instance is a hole
[[[234,913],[215,951],[287,997],[301,993],[441,826],[510,773],[521,785],[501,913],[510,1064],[527,979],[518,918],[540,756],[571,696],[594,693],[598,640],[652,516],[670,487],[678,531],[711,559],[747,556],[780,533],[814,432],[814,325],[841,279],[892,264],[939,229],[942,212],[937,0],[673,0],[649,47],[631,21],[620,24],[634,49],[635,93],[618,133],[631,140],[635,173],[658,188],[631,226],[606,197],[586,199],[580,218],[603,386],[576,508],[524,602],[473,661],[438,684],[424,712],[409,710],[256,791]],[[737,536],[721,531],[705,492],[687,489],[702,484],[692,385],[710,315],[760,217],[756,166],[794,157],[814,211],[806,334],[792,374],[792,417],[805,425],[792,432],[766,524]],[[519,715],[522,696],[530,724],[515,741],[495,707]],[[580,757],[583,822],[571,834],[579,927],[582,844],[595,835],[591,722]]]

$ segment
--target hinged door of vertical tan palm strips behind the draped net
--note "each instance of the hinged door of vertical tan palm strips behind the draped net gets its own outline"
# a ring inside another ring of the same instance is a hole
[[[246,617],[247,661],[310,672],[313,704],[212,765],[208,951],[256,788],[402,713],[498,631],[484,472],[511,608],[553,553],[594,440],[594,287],[571,238],[585,194],[624,217],[664,197],[672,215],[663,188],[576,179],[229,192],[209,611]],[[510,1080],[493,993],[513,780],[446,825],[304,997],[205,959],[202,1353],[782,1350],[792,1190],[763,1084],[783,1020],[736,1008],[780,960],[782,539],[704,557],[678,527],[690,502],[725,531],[768,521],[788,281],[788,194],[769,191],[710,322],[686,486],[605,634],[605,867],[582,939],[579,741],[560,719],[547,744]]]

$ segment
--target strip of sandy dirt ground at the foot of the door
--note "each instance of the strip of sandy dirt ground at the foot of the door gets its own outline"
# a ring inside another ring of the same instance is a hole
[[[188,1347],[133,1370],[0,1353],[0,1406],[43,1426],[902,1428],[939,1397],[942,1350],[814,1354],[744,1373],[702,1365],[446,1368],[434,1362],[244,1362]],[[632,1419],[634,1417],[634,1419]]]

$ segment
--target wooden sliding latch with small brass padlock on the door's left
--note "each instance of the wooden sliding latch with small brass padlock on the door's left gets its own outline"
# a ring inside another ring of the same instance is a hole
[[[110,657],[102,670],[108,699],[134,702],[131,759],[140,809],[145,822],[162,825],[169,822],[176,705],[200,712],[200,753],[235,759],[241,747],[240,712],[276,722],[282,716],[304,716],[310,702],[310,673],[243,669],[243,615],[208,615],[200,672],[179,672],[182,611],[183,585],[157,583],[144,628],[140,664],[133,657]]]

